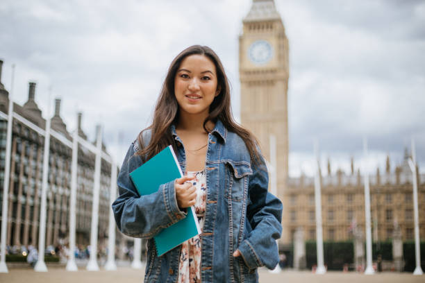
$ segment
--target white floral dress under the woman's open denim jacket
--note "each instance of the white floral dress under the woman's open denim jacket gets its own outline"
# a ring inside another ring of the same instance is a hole
[[[197,199],[194,210],[198,216],[199,226],[203,229],[206,210],[206,173],[203,171],[188,171],[194,176],[192,184],[197,188]],[[178,283],[201,282],[201,235],[197,235],[181,244],[180,264],[178,265]]]

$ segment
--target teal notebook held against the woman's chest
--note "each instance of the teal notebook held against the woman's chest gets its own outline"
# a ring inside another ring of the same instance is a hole
[[[183,177],[183,172],[172,146],[167,146],[163,151],[131,172],[130,177],[140,196],[144,196],[155,193],[162,184]],[[161,230],[153,237],[158,255],[165,254],[165,252],[172,250],[172,248],[197,234],[201,234],[201,228],[199,228],[194,208],[190,207],[185,218]]]

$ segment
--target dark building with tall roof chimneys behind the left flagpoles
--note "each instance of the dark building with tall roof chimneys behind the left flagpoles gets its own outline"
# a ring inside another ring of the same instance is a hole
[[[0,61],[0,203],[3,201],[3,181],[6,153],[6,129],[8,91],[1,83]],[[35,103],[35,83],[29,83],[28,101],[24,105],[14,103],[13,112],[33,125],[46,127],[46,120]],[[51,119],[51,129],[72,141],[67,126],[60,117],[60,99]],[[81,128],[78,116],[78,134],[87,136]],[[6,244],[10,246],[38,245],[40,218],[42,160],[44,136],[13,119],[12,152],[10,161],[10,188],[8,196],[8,229]],[[106,152],[105,146],[103,151]],[[51,136],[49,177],[47,191],[46,246],[54,246],[60,239],[69,237],[69,197],[71,186],[72,148]],[[78,147],[78,185],[76,194],[76,243],[88,245],[92,215],[92,191],[94,178],[94,154],[83,146]],[[101,162],[101,191],[99,198],[99,243],[107,237],[109,216],[110,164]],[[0,209],[1,214],[1,209]],[[1,221],[5,221],[1,216]]]

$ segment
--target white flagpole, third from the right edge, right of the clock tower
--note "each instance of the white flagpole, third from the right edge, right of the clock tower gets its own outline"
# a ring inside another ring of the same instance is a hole
[[[316,274],[325,274],[323,258],[323,231],[322,231],[322,191],[320,187],[319,141],[315,139],[316,174],[315,174],[315,209],[316,209],[316,248],[317,268]]]

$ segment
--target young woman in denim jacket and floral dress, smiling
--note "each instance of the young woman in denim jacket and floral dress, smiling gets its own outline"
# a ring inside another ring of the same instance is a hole
[[[214,51],[190,46],[169,67],[151,126],[128,149],[113,211],[120,231],[149,239],[144,282],[258,282],[258,267],[278,263],[282,204],[267,192],[265,160],[235,123],[230,95]],[[170,144],[185,175],[140,196],[128,174]],[[192,205],[202,233],[158,257],[153,236]]]

